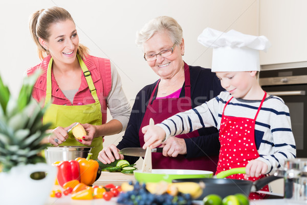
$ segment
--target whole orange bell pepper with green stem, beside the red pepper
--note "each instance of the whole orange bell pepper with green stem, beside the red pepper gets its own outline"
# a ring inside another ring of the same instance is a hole
[[[75,160],[79,162],[80,166],[80,182],[85,183],[85,185],[92,185],[97,176],[97,171],[99,164],[96,160],[90,159],[93,154],[89,153],[87,158],[78,157]]]

